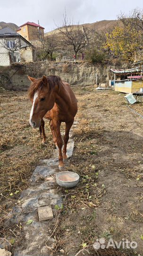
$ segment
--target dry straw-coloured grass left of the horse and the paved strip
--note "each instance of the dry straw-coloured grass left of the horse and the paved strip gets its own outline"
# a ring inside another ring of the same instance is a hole
[[[53,142],[46,122],[47,145],[41,144],[39,130],[29,127],[31,102],[24,92],[0,91],[0,227],[18,198],[29,185],[39,159],[49,158]],[[9,228],[10,229],[10,228]]]

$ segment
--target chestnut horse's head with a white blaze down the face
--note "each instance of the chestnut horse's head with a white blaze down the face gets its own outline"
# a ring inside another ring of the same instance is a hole
[[[32,82],[29,96],[33,103],[29,123],[33,128],[38,128],[46,112],[54,106],[54,93],[46,76],[43,75],[42,78],[38,79],[28,76],[28,79]]]

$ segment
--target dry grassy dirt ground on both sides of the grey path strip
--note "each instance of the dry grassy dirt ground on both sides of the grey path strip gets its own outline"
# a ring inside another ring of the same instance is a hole
[[[50,255],[74,256],[104,238],[137,242],[137,248],[114,255],[143,255],[143,119],[127,108],[124,94],[75,87],[79,110],[73,129],[75,149],[67,170],[80,175],[79,185],[63,194],[64,209],[54,232]],[[46,124],[47,146],[29,127],[31,103],[25,92],[0,91],[0,237],[9,241],[22,227],[7,226],[8,211],[39,159],[49,158],[53,143]],[[132,109],[143,115],[143,102]],[[54,227],[51,227],[51,230]],[[14,252],[17,241],[12,243]],[[104,250],[103,250],[104,251]],[[101,249],[95,255],[108,255]],[[91,253],[91,255],[93,255]],[[109,254],[113,255],[113,251]]]

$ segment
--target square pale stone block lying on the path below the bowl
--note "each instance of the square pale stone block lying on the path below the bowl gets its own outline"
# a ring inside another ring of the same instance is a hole
[[[38,208],[39,221],[53,219],[51,206],[43,206]]]

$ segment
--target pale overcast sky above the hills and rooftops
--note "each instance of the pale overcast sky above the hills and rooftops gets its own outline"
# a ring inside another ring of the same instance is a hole
[[[103,19],[117,19],[120,11],[129,13],[143,8],[143,0],[0,0],[0,21],[20,26],[27,21],[45,27],[44,32],[62,25],[62,15],[75,23],[93,23]]]

